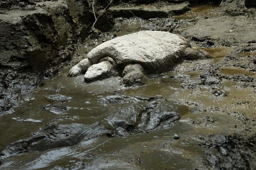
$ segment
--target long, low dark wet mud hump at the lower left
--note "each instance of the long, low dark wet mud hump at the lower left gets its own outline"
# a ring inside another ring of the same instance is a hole
[[[99,122],[93,125],[72,123],[68,125],[51,125],[38,132],[38,135],[22,139],[8,145],[0,154],[0,162],[9,156],[25,151],[48,150],[67,147],[101,135],[111,135]]]

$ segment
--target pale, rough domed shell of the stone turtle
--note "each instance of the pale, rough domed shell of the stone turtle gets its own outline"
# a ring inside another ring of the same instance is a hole
[[[117,37],[93,48],[87,54],[93,64],[111,57],[117,65],[139,63],[147,71],[163,71],[177,64],[189,42],[176,34],[163,31],[140,31]]]

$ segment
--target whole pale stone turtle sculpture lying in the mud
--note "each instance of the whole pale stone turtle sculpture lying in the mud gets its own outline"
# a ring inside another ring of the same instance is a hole
[[[87,59],[70,69],[70,77],[84,74],[85,82],[111,76],[123,77],[123,84],[143,85],[146,74],[172,69],[183,59],[208,57],[191,48],[189,41],[164,31],[140,31],[109,40],[93,48]]]

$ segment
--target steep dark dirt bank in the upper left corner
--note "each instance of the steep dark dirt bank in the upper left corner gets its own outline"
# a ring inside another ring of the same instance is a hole
[[[103,5],[97,3],[96,15]],[[91,6],[73,0],[0,2],[0,114],[11,113],[23,99],[20,94],[42,85],[70,61],[76,43],[91,32]],[[95,28],[111,29],[106,16]]]

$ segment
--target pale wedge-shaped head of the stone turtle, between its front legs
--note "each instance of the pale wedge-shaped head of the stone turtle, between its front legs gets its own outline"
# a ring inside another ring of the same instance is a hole
[[[109,61],[102,61],[88,68],[87,72],[84,74],[84,81],[93,82],[117,75],[116,69]]]

